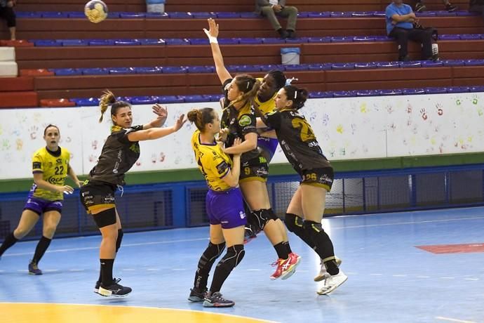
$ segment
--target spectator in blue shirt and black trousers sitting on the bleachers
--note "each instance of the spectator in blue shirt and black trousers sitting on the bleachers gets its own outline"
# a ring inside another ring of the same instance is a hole
[[[422,60],[437,60],[432,57],[432,29],[418,24],[412,7],[403,0],[394,0],[386,7],[386,34],[394,37],[398,44],[398,60],[408,61],[408,39],[422,43]],[[417,25],[414,25],[417,24]]]

